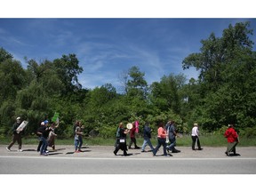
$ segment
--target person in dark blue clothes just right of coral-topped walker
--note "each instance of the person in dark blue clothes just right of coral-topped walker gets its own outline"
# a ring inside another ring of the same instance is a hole
[[[170,145],[169,146],[167,145],[166,149],[168,152],[172,151],[172,153],[180,153],[180,150],[175,148],[177,132],[174,124],[175,124],[174,121],[169,121],[165,126],[167,127],[166,131],[169,132],[169,135],[167,137],[169,137],[169,141],[170,141]]]

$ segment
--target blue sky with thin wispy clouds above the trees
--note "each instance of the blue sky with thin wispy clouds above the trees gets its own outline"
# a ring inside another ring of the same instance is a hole
[[[229,24],[249,19],[0,19],[0,47],[24,68],[28,59],[54,60],[75,53],[84,72],[79,82],[93,89],[107,83],[117,91],[120,75],[132,66],[145,73],[148,84],[164,75],[197,77],[182,60],[200,52],[200,41],[213,32],[221,36]],[[256,20],[251,28],[256,33]],[[252,40],[256,42],[255,35]],[[254,46],[255,50],[255,46]]]

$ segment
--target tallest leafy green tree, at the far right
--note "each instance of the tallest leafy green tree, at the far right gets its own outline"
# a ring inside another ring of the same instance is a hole
[[[255,52],[252,51],[252,29],[248,22],[229,25],[220,38],[211,34],[200,53],[183,60],[183,68],[200,70],[197,94],[200,103],[191,118],[200,119],[209,130],[223,124],[253,126],[255,105]],[[190,102],[190,100],[188,100]]]

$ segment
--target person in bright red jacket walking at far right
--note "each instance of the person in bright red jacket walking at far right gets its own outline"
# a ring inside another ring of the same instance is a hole
[[[236,156],[236,145],[238,144],[238,134],[236,130],[234,129],[233,124],[228,124],[228,129],[224,133],[224,137],[228,140],[228,147],[225,152],[227,156],[230,156],[230,152],[234,153],[234,156]]]

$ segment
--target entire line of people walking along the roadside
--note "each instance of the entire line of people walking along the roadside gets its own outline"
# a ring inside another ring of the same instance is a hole
[[[22,152],[22,140],[21,140],[21,132],[17,132],[17,128],[21,124],[21,118],[17,117],[16,122],[12,125],[12,142],[7,146],[6,150],[11,151],[13,144],[17,141],[19,145],[18,151]],[[52,147],[55,150],[55,137],[57,134],[54,130],[59,126],[59,124],[49,124],[48,120],[44,120],[41,122],[40,127],[37,129],[36,135],[38,136],[38,147],[37,152],[40,152],[42,156],[48,156],[47,147]],[[119,149],[123,150],[124,156],[128,156],[127,151],[128,148],[132,148],[132,144],[134,144],[134,148],[139,149],[140,147],[137,145],[137,140],[135,137],[136,125],[132,123],[131,129],[126,129],[123,123],[120,123],[116,130],[116,143],[114,154],[117,155]],[[176,146],[176,127],[174,121],[169,121],[167,124],[160,123],[157,129],[157,145],[156,148],[153,147],[151,143],[151,128],[148,123],[145,124],[143,129],[143,144],[141,147],[141,152],[146,152],[145,148],[149,146],[150,152],[153,153],[153,156],[156,156],[159,148],[163,146],[164,156],[171,156],[172,153],[179,153],[180,150],[175,148]],[[126,144],[126,136],[130,134],[130,143],[127,148]],[[80,121],[76,121],[74,125],[74,145],[75,145],[75,153],[81,152],[81,148],[83,145],[83,134],[84,134],[84,125],[81,124]],[[228,124],[228,129],[224,133],[224,137],[228,140],[228,147],[225,152],[227,156],[230,156],[230,153],[233,152],[236,155],[236,145],[239,142],[239,137],[234,129],[233,124]],[[199,129],[198,124],[194,124],[191,132],[192,138],[192,150],[202,150],[200,140],[199,140]],[[196,148],[197,146],[197,148]]]

